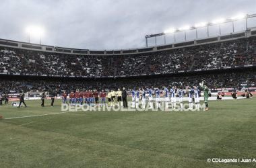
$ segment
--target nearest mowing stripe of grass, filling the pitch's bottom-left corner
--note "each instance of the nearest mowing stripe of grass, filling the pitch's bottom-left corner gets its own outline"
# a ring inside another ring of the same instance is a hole
[[[8,143],[22,144],[19,151],[1,159],[6,161],[18,154],[21,157],[13,159],[13,163],[5,165],[36,167],[42,163],[42,167],[239,167],[238,165],[222,163],[207,163],[205,159],[184,157],[176,154],[167,154],[145,149],[136,149],[131,146],[103,142],[90,138],[81,138],[68,134],[23,128],[13,130]],[[24,136],[26,134],[26,136]],[[1,138],[0,138],[1,139]],[[51,143],[49,143],[49,141]],[[40,143],[40,146],[36,144]],[[22,150],[23,149],[23,150]],[[30,151],[28,152],[28,149]],[[55,153],[51,153],[51,150]],[[15,148],[9,147],[9,151]],[[8,151],[8,153],[9,153]],[[40,151],[40,152],[38,152]],[[44,154],[42,154],[43,152]],[[36,156],[36,159],[34,159]],[[24,162],[26,157],[27,162]],[[68,158],[68,159],[67,159]],[[0,161],[1,161],[0,159]]]

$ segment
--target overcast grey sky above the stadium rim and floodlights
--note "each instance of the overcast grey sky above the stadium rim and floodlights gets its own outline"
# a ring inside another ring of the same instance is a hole
[[[145,36],[183,26],[195,26],[214,19],[230,19],[256,13],[255,0],[1,0],[0,38],[28,42],[26,28],[44,29],[42,44],[67,48],[113,50],[142,48]],[[256,26],[255,17],[248,27]],[[218,36],[219,27],[210,27],[210,36]],[[234,22],[234,31],[245,30],[245,20]],[[222,34],[232,32],[232,23],[222,24]],[[198,30],[198,38],[207,36],[207,29]],[[184,33],[176,36],[185,40]],[[195,31],[187,32],[187,40],[195,39]],[[30,42],[39,44],[39,38],[30,36]],[[174,36],[166,36],[174,42]],[[157,39],[164,44],[164,38]],[[149,46],[155,39],[149,39]]]

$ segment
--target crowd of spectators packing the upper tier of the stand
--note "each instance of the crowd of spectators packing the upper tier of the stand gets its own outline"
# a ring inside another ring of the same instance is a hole
[[[115,76],[214,69],[256,62],[255,38],[147,54],[81,56],[0,47],[0,72]]]

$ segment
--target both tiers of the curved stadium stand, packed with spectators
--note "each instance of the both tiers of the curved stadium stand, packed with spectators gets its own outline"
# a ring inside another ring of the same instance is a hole
[[[143,75],[150,73],[170,73],[198,69],[216,69],[256,63],[256,38],[226,40],[212,44],[189,46],[160,52],[113,56],[82,56],[55,52],[38,52],[19,48],[0,47],[0,73],[27,73],[41,75],[83,75],[91,77]],[[151,77],[127,80],[111,79],[105,81],[79,81],[69,79],[1,79],[0,92],[7,90],[72,90],[79,89],[117,89],[135,87],[162,87],[163,85],[195,85],[205,80],[211,88],[238,88],[241,83],[255,87],[255,71],[230,73],[181,75],[181,77]]]

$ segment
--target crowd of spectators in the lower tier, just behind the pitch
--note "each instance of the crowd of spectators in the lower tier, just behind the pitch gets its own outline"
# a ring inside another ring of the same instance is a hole
[[[256,87],[256,71],[239,71],[236,73],[218,73],[212,75],[181,75],[177,77],[143,77],[143,78],[123,78],[120,79],[76,79],[71,81],[68,78],[47,78],[47,79],[1,79],[0,92],[3,91],[49,91],[52,90],[69,90],[75,89],[117,89],[127,88],[135,89],[136,87],[159,87],[175,85],[176,87],[185,88],[188,85],[199,85],[205,81],[211,89],[216,88],[234,88],[239,89],[239,85],[248,84],[249,87]]]

